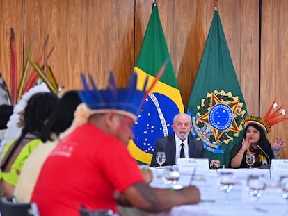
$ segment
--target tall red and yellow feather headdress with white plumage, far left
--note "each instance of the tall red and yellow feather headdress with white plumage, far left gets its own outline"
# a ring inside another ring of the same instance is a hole
[[[34,34],[35,35],[35,34]],[[20,113],[26,107],[26,103],[33,94],[38,92],[54,92],[57,93],[59,88],[54,75],[51,72],[47,60],[53,51],[53,48],[49,52],[49,55],[44,59],[44,63],[41,66],[40,62],[43,59],[45,47],[47,46],[48,37],[45,40],[42,51],[38,57],[37,62],[31,58],[34,35],[31,45],[28,50],[28,58],[24,65],[22,76],[18,81],[17,71],[17,52],[16,52],[16,40],[13,28],[11,28],[10,35],[10,86],[6,85],[4,78],[0,74],[0,104],[13,105],[13,114],[7,123],[7,130],[0,145],[0,155],[2,155],[3,148],[10,140],[15,140],[19,137],[22,130],[21,122],[19,122]],[[32,65],[33,69],[31,73],[28,72],[29,65]],[[46,69],[46,70],[45,70]],[[41,80],[38,82],[38,80]],[[10,92],[9,92],[10,89]]]

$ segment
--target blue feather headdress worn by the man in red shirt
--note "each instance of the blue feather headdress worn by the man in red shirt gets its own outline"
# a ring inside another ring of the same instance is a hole
[[[114,111],[129,115],[133,118],[139,113],[145,98],[147,97],[147,81],[145,80],[142,90],[137,89],[138,76],[136,72],[131,74],[127,88],[116,88],[115,77],[112,72],[109,76],[109,85],[106,89],[98,90],[91,75],[89,75],[91,89],[84,74],[81,74],[83,91],[79,92],[79,97],[86,103],[93,113],[106,113]],[[151,89],[151,87],[150,87]]]

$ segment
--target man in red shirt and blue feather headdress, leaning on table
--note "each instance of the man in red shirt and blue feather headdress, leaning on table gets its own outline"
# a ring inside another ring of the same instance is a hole
[[[136,90],[136,74],[132,74],[128,88],[119,90],[112,74],[109,88],[104,90],[97,90],[90,81],[92,90],[83,77],[83,103],[75,113],[76,122],[87,122],[59,142],[41,169],[31,199],[40,214],[79,216],[81,205],[118,213],[118,204],[160,212],[198,203],[200,193],[195,186],[151,188],[127,150],[129,139],[134,137],[136,115],[147,95],[146,86],[143,91]]]

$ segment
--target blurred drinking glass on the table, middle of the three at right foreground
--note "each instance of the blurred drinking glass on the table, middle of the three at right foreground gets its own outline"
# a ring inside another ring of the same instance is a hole
[[[257,201],[262,197],[264,190],[266,188],[266,183],[264,176],[250,175],[247,178],[247,187],[248,194],[254,201]]]

